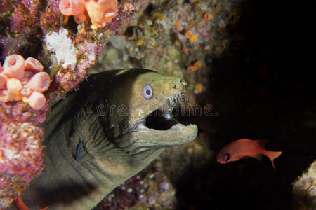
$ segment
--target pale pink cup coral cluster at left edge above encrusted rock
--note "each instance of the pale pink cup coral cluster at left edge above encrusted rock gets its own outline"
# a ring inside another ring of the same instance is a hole
[[[41,62],[33,57],[26,60],[20,55],[6,57],[0,69],[0,102],[22,100],[35,110],[41,109],[46,103],[41,92],[48,90],[51,83],[43,69]]]

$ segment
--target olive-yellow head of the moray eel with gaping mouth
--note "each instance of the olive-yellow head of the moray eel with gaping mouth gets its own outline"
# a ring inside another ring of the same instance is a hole
[[[117,127],[113,141],[124,155],[147,165],[164,148],[195,139],[197,126],[183,125],[172,116],[173,107],[185,90],[185,81],[143,69],[121,70],[115,78],[118,79],[112,80],[112,95],[108,97],[111,113],[107,118],[112,127]]]

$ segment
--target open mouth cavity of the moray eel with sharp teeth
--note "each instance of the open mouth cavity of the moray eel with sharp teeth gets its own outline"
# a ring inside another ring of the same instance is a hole
[[[176,92],[172,94],[164,105],[138,120],[136,130],[177,130],[185,127],[185,125],[178,123],[172,115],[173,108],[179,102],[182,93]]]

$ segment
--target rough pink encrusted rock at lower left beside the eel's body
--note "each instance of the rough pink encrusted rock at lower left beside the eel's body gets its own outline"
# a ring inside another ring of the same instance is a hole
[[[43,130],[33,123],[1,122],[0,209],[10,206],[33,177],[44,169],[43,134]]]

